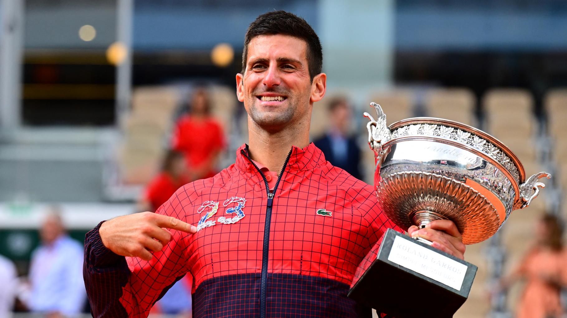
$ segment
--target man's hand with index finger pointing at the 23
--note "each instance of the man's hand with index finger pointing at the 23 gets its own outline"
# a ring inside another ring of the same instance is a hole
[[[194,234],[197,227],[152,212],[129,214],[108,220],[100,225],[100,239],[105,247],[122,256],[151,260],[151,252],[161,251],[171,240],[167,229]]]

